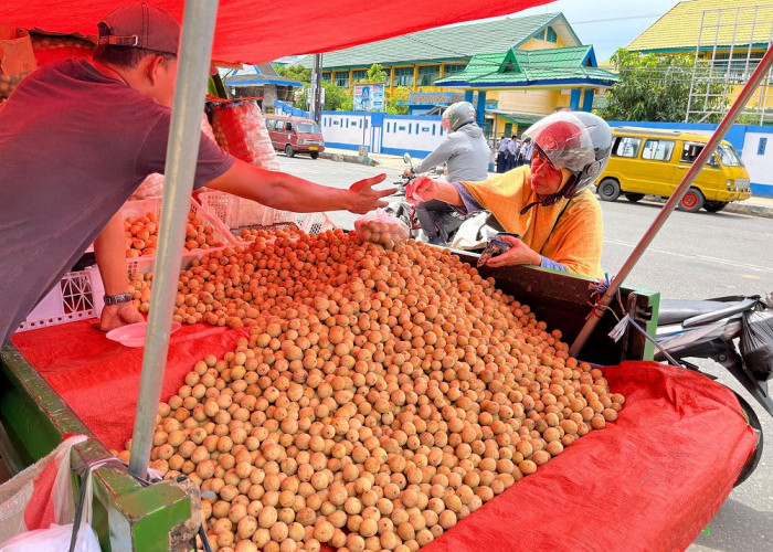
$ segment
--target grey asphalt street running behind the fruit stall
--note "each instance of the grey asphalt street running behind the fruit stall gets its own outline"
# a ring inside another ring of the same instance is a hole
[[[306,157],[279,156],[283,170],[318,183],[348,187],[356,180],[386,172],[395,180],[402,167],[380,168]],[[657,216],[661,204],[626,200],[602,202],[604,247],[602,266],[616,274]],[[357,215],[329,213],[351,229]],[[668,299],[706,299],[727,295],[773,293],[773,220],[732,213],[675,212],[635,266],[626,286],[660,291]],[[698,362],[719,381],[746,397],[721,367]],[[752,476],[734,489],[720,511],[688,549],[691,552],[763,552],[773,550],[773,420],[759,406],[767,445]],[[718,459],[721,461],[721,459]]]

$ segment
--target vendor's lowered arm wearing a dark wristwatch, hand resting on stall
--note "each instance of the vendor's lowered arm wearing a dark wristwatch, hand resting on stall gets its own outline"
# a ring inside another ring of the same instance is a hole
[[[99,275],[105,286],[105,295],[119,295],[129,293],[129,277],[126,272],[126,232],[124,231],[124,217],[117,212],[110,222],[105,225],[94,241],[94,255],[96,256]],[[105,305],[102,310],[99,329],[109,331],[114,328],[134,322],[141,322],[142,315],[137,311],[133,302],[118,305]]]

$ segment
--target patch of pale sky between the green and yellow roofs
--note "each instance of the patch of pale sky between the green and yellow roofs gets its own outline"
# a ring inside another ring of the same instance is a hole
[[[513,17],[563,12],[582,43],[592,44],[596,60],[602,62],[677,3],[677,0],[558,0]]]

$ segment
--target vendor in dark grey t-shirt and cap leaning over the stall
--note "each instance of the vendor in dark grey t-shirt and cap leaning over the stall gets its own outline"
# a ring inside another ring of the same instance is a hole
[[[0,346],[92,242],[102,329],[142,319],[128,296],[119,209],[163,172],[179,31],[163,10],[124,4],[99,23],[93,61],[44,65],[0,107]],[[371,189],[383,179],[322,187],[236,160],[202,135],[193,187],[287,211],[366,213],[395,191]]]

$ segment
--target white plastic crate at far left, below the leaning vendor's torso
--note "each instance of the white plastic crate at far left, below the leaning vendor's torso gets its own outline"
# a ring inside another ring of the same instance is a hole
[[[96,316],[92,275],[88,270],[67,273],[32,309],[17,331],[34,330]]]

